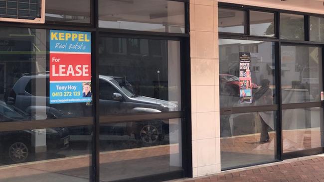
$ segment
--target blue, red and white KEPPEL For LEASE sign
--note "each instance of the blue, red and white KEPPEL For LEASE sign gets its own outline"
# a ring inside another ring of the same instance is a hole
[[[49,36],[49,102],[91,102],[90,32],[50,30]]]

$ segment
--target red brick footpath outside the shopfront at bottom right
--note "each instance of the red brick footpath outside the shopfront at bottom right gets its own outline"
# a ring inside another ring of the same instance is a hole
[[[324,182],[324,154],[168,182]]]

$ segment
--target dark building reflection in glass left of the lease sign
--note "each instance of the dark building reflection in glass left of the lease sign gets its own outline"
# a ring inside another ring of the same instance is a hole
[[[10,91],[14,83],[23,75],[44,73],[46,71],[46,41],[41,42],[42,32],[11,31],[8,28],[0,30],[0,66],[3,80],[0,83],[0,93]],[[30,54],[33,52],[33,54]],[[0,81],[0,82],[1,82]]]

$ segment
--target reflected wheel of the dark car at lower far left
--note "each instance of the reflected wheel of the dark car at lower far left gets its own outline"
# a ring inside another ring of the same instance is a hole
[[[15,142],[9,146],[9,157],[14,162],[23,162],[29,156],[29,150],[26,144],[23,142]]]

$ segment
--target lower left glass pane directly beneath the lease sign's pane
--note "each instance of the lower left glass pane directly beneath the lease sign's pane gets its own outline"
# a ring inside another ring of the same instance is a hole
[[[91,133],[91,126],[0,132],[0,181],[89,182]]]

